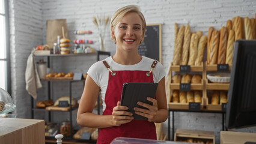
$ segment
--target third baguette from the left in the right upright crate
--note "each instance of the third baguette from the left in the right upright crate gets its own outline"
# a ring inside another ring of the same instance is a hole
[[[219,34],[218,64],[225,64],[226,62],[227,40],[227,29],[222,26],[221,32]]]

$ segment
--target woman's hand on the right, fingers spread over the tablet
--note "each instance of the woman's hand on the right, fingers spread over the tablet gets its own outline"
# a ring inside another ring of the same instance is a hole
[[[157,101],[156,101],[156,99],[150,98],[150,97],[147,97],[147,100],[151,101],[153,103],[152,106],[150,104],[142,103],[141,101],[139,101],[137,104],[139,106],[145,107],[147,109],[141,109],[139,107],[134,107],[133,109],[135,110],[135,113],[137,115],[144,116],[144,117],[148,118],[149,122],[152,122],[154,120],[154,117],[156,116],[156,113],[158,110]]]

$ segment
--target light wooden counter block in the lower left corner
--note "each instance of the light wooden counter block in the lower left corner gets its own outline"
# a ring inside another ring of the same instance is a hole
[[[44,121],[0,118],[0,143],[45,144]]]

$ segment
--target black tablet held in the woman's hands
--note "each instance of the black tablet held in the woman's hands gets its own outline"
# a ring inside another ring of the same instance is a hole
[[[129,109],[128,112],[133,113],[134,120],[147,120],[144,116],[137,115],[133,110],[134,107],[139,107],[147,109],[145,107],[139,106],[138,101],[147,104],[153,104],[151,101],[147,100],[147,97],[154,98],[156,95],[158,83],[124,83],[122,96],[121,96],[121,106],[127,106]]]

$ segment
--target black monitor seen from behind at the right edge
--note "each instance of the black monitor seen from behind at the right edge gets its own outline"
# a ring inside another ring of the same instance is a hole
[[[234,43],[226,128],[256,125],[256,40]]]

